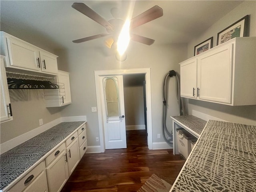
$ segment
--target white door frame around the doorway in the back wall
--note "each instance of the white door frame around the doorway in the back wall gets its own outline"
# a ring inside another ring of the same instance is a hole
[[[101,105],[102,93],[100,89],[100,77],[110,75],[126,75],[126,74],[145,74],[146,80],[146,105],[147,105],[147,132],[148,132],[148,149],[152,149],[152,106],[151,106],[151,81],[150,81],[150,68],[138,69],[117,69],[117,70],[97,70],[94,71],[96,99],[98,108],[98,124],[100,134],[100,152],[105,152],[104,140],[104,123],[103,123],[103,109]]]

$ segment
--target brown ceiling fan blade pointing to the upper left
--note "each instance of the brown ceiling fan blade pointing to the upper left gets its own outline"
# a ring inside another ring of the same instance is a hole
[[[114,30],[114,26],[110,24],[107,20],[102,18],[99,14],[97,14],[94,10],[92,10],[90,7],[88,7],[84,3],[73,3],[72,8],[78,10],[82,14],[88,16],[92,20],[96,21],[97,23],[104,26],[106,29]]]

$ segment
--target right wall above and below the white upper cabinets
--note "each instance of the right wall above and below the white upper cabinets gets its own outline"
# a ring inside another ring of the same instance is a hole
[[[212,25],[204,34],[193,39],[188,44],[188,58],[194,56],[195,45],[211,36],[214,37],[213,46],[216,46],[218,32],[247,14],[250,15],[250,36],[256,36],[256,1],[245,1]],[[226,106],[192,99],[186,99],[186,101],[189,114],[192,114],[192,110],[197,110],[230,122],[256,125],[256,106]]]

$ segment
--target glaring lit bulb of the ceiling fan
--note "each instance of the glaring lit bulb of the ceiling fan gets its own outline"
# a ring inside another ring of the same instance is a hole
[[[130,20],[124,22],[124,26],[118,36],[117,51],[119,55],[123,55],[130,42]]]

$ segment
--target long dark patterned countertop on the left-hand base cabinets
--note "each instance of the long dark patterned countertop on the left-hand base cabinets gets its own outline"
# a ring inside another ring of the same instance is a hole
[[[0,155],[0,190],[38,162],[85,121],[62,122]]]

